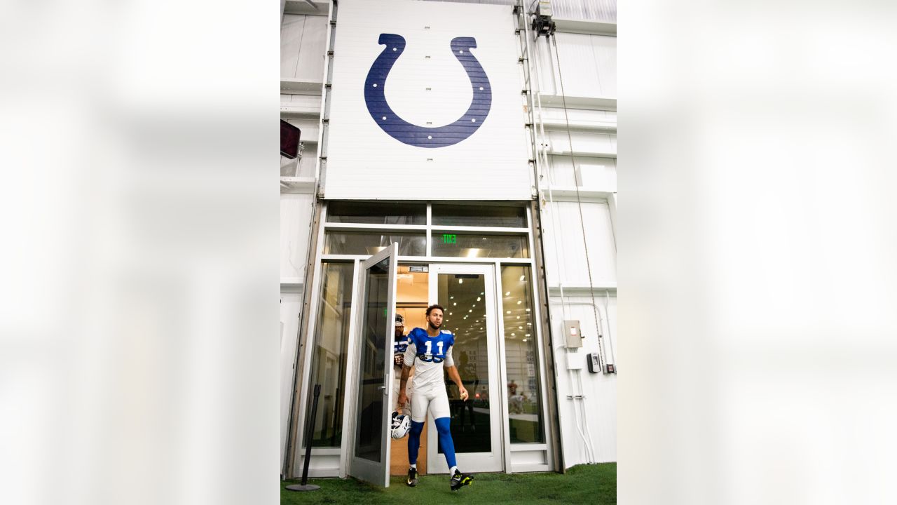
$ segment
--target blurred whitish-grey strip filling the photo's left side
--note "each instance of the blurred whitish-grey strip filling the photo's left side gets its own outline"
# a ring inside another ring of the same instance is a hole
[[[0,503],[279,499],[279,9],[0,6]]]

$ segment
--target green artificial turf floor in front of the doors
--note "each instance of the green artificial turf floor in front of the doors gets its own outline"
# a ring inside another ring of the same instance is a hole
[[[422,475],[416,487],[405,477],[392,477],[388,488],[354,479],[309,479],[318,491],[292,492],[281,483],[281,504],[352,503],[355,505],[437,505],[440,503],[616,503],[616,463],[576,465],[567,474],[475,474],[474,483],[457,492],[448,488],[448,475]]]

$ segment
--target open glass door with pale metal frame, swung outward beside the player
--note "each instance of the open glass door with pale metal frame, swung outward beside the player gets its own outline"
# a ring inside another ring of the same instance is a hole
[[[350,444],[349,474],[389,486],[389,414],[391,371],[396,318],[396,258],[398,244],[389,245],[361,262],[355,307],[358,356],[354,429]]]

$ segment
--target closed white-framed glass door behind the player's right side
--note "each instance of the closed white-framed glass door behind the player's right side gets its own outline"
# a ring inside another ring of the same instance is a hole
[[[470,394],[462,401],[446,376],[452,441],[462,472],[504,470],[493,270],[492,265],[430,266],[431,303],[445,307],[442,327],[455,334],[452,359]],[[428,431],[430,473],[448,473],[437,432]]]

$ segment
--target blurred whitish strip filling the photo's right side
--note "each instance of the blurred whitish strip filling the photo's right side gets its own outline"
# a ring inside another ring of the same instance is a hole
[[[619,502],[897,501],[897,4],[618,8]]]

